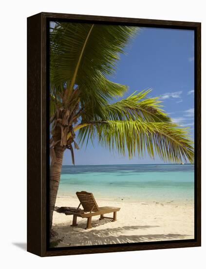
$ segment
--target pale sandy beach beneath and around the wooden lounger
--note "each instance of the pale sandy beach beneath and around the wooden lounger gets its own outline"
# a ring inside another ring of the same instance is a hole
[[[191,201],[125,202],[99,200],[99,206],[121,207],[117,221],[99,221],[92,218],[92,228],[85,230],[86,219],[77,218],[77,227],[71,227],[73,216],[54,212],[53,229],[61,242],[57,247],[152,242],[194,238],[194,205]],[[61,196],[56,206],[77,207],[77,198]],[[107,214],[111,216],[112,214]],[[54,239],[53,239],[54,240]]]

